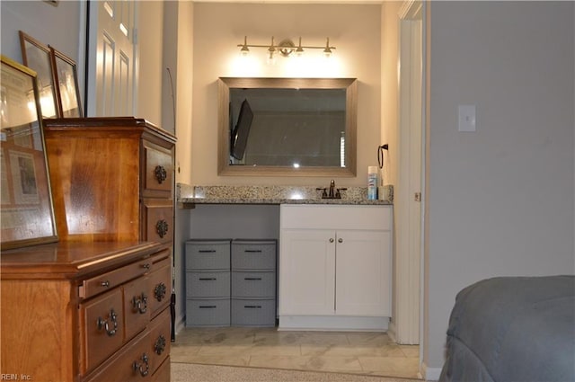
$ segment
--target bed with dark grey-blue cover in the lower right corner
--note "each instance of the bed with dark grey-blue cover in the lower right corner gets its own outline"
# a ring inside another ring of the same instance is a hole
[[[575,276],[500,277],[461,290],[439,380],[575,381]]]

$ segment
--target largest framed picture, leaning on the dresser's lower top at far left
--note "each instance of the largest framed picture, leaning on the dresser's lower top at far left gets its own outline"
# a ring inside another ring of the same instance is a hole
[[[57,241],[36,73],[2,56],[0,249]]]

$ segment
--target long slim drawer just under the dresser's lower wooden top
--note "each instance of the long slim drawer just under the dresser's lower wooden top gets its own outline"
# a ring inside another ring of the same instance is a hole
[[[114,271],[103,273],[102,275],[93,277],[92,279],[84,280],[80,287],[80,297],[91,298],[102,292],[113,289],[128,280],[136,279],[138,276],[146,273],[150,266],[150,260],[144,259],[138,262],[132,262],[131,264],[120,267]]]

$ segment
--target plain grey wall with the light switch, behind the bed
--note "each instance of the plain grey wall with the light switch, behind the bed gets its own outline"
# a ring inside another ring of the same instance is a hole
[[[575,273],[575,13],[572,2],[429,7],[424,362],[435,369],[464,286]],[[476,105],[476,132],[457,131],[458,104]]]

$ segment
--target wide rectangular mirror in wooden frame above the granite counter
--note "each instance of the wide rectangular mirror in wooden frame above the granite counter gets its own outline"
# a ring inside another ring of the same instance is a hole
[[[355,78],[218,80],[218,173],[355,176]]]

